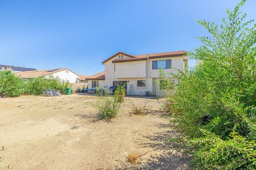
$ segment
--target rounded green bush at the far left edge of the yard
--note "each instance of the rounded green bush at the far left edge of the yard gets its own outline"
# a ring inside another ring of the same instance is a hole
[[[0,96],[17,97],[25,92],[25,81],[12,71],[0,71]]]

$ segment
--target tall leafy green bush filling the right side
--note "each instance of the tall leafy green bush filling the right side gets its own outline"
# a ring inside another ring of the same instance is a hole
[[[256,169],[256,24],[244,21],[244,3],[221,25],[198,21],[211,36],[189,56],[203,62],[176,75],[166,100],[195,169]]]

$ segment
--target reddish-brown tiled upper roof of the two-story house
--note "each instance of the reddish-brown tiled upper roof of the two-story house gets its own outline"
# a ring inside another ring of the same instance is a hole
[[[114,58],[118,54],[124,54],[124,55],[127,56],[126,53],[118,52],[118,53],[114,54],[113,56],[109,57],[107,60],[103,61],[102,64],[111,60],[112,58]],[[181,51],[175,51],[175,52],[132,55],[131,58],[115,59],[115,60],[112,61],[112,63],[142,61],[142,60],[148,60],[148,59],[151,59],[151,58],[178,57],[178,56],[183,56],[183,55],[186,55],[186,54],[187,54],[187,52],[185,50],[181,50]]]

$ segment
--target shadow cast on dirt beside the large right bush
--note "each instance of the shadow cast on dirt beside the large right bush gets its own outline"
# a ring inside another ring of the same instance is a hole
[[[189,169],[190,157],[183,156],[175,143],[168,142],[170,138],[179,137],[179,134],[172,130],[168,123],[161,123],[157,126],[165,128],[166,131],[143,136],[148,140],[141,143],[141,147],[149,147],[158,154],[149,156],[147,160],[137,165],[128,162],[120,163],[116,169]]]

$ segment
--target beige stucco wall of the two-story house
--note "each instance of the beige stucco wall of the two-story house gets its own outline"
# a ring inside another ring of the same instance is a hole
[[[152,62],[156,60],[171,60],[172,69],[164,69],[166,77],[172,78],[168,73],[178,73],[178,69],[183,71],[184,62],[183,56],[181,57],[165,57],[149,59],[147,61],[137,61],[137,62],[122,62],[122,63],[112,63],[113,60],[118,58],[118,55],[112,60],[106,62],[105,65],[105,81],[103,81],[100,87],[111,87],[113,86],[113,81],[129,81],[127,82],[127,90],[130,89],[130,84],[133,84],[133,95],[145,95],[146,91],[150,91],[150,95],[153,95],[153,86],[156,87],[156,95],[163,96],[163,90],[159,89],[159,84],[154,83],[157,78],[159,78],[159,69],[152,69]],[[116,69],[114,71],[114,64],[116,64]],[[172,78],[174,83],[178,83],[177,78]],[[146,80],[146,87],[137,87],[137,80]],[[90,86],[89,86],[90,87]],[[129,94],[129,92],[128,92]]]

